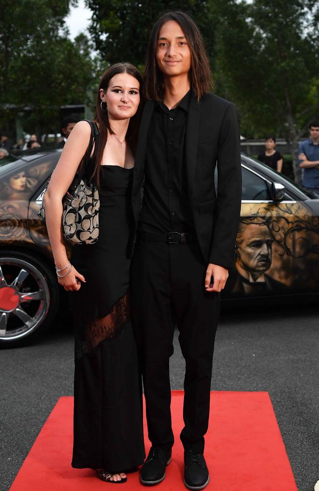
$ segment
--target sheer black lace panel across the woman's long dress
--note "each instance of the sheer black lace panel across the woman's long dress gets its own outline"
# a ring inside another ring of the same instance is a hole
[[[76,358],[91,353],[105,339],[115,337],[130,318],[130,299],[129,294],[126,294],[106,316],[90,321],[82,320],[81,329],[76,329]]]

